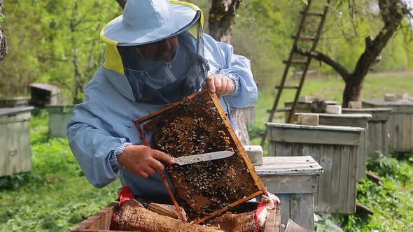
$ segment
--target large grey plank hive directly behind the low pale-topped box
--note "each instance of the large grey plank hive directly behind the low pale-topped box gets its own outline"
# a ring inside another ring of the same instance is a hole
[[[266,125],[269,156],[311,156],[323,167],[314,195],[316,212],[356,212],[357,154],[363,128]]]

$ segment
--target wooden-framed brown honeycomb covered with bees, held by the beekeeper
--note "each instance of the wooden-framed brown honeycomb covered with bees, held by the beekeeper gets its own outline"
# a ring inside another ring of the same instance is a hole
[[[166,169],[176,201],[194,223],[204,222],[265,192],[215,94],[193,94],[138,119],[135,124],[146,144],[151,140],[151,147],[172,157],[221,150],[235,152],[225,159]],[[144,131],[151,138],[146,138]]]

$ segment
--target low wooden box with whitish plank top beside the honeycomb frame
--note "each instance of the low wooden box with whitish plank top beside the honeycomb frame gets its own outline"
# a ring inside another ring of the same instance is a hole
[[[264,157],[262,166],[255,166],[255,171],[267,190],[281,200],[281,224],[293,219],[314,231],[314,193],[323,168],[310,156]]]

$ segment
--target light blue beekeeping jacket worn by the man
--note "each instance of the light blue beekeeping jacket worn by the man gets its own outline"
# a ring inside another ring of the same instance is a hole
[[[122,184],[130,186],[135,195],[167,196],[157,174],[144,179],[123,167],[114,168],[113,159],[111,163],[113,151],[119,145],[144,144],[134,120],[162,108],[135,101],[132,87],[121,71],[122,61],[112,47],[107,45],[104,64],[87,84],[85,100],[75,107],[74,117],[67,126],[71,151],[87,180],[95,187],[104,187],[120,175]],[[204,34],[204,58],[209,64],[209,75],[219,73],[235,80],[235,92],[221,99],[229,115],[232,107],[244,108],[257,101],[250,61],[234,55],[232,45]],[[179,65],[174,64],[174,60],[172,66]]]

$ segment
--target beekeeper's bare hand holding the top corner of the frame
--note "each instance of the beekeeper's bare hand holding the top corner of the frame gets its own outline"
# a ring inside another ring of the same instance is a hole
[[[211,93],[216,93],[218,99],[221,99],[221,96],[235,92],[235,80],[223,74],[213,74],[207,78],[204,89],[208,89]]]

